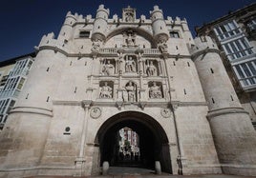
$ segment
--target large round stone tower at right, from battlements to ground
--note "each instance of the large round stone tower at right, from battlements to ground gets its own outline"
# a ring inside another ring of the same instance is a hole
[[[192,58],[208,102],[208,115],[224,173],[256,175],[256,132],[226,74],[219,49],[207,36],[195,39]]]

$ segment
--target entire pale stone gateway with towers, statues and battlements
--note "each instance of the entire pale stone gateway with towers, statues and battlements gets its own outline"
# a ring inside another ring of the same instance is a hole
[[[209,37],[185,19],[68,12],[43,36],[0,137],[0,176],[95,175],[113,135],[139,134],[141,164],[172,174],[255,175],[255,130]],[[211,71],[214,71],[212,73]],[[232,96],[232,97],[231,97]]]

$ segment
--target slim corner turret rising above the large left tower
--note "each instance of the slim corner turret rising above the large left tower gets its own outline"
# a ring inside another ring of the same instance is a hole
[[[73,25],[76,22],[75,15],[69,11],[66,15],[66,19],[64,21],[64,24],[59,31],[58,34],[58,39],[64,39],[64,40],[69,40],[72,37],[72,31],[73,31]]]

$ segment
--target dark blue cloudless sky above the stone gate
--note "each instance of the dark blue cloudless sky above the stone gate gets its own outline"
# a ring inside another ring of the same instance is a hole
[[[190,30],[255,0],[1,0],[0,61],[33,51],[44,34],[59,32],[67,11],[96,15],[98,5],[110,9],[110,18],[128,5],[149,18],[149,10],[158,5],[163,15],[186,18]]]

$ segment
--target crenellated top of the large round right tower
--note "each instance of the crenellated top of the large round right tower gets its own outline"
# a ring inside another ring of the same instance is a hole
[[[189,49],[192,57],[196,57],[207,52],[220,52],[218,46],[209,36],[196,37],[194,39],[194,42],[195,45],[192,45],[191,48]]]

